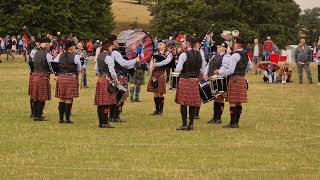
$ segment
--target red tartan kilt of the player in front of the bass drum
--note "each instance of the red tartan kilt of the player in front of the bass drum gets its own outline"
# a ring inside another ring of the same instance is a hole
[[[116,93],[110,94],[107,87],[110,84],[110,77],[99,76],[96,86],[95,105],[113,105],[116,104]]]

